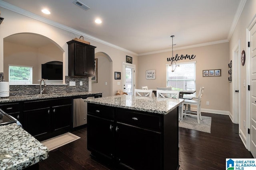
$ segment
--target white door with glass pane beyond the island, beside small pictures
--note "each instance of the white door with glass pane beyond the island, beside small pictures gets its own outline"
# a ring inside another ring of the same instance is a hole
[[[135,65],[123,63],[123,92],[132,96],[135,87]]]

